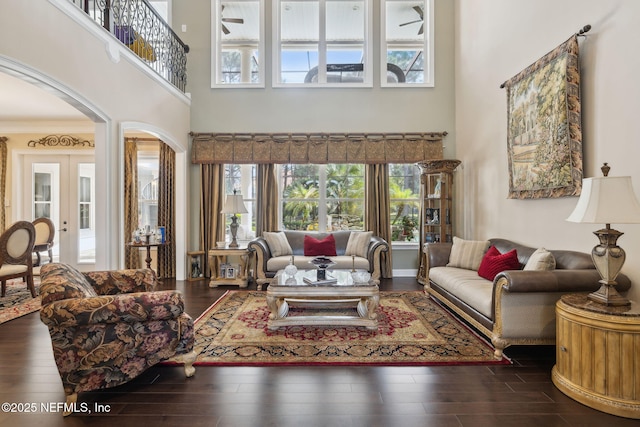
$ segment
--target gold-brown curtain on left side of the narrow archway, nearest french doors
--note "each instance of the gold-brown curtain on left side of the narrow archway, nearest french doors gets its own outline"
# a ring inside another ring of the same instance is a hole
[[[124,239],[130,242],[138,228],[138,148],[134,138],[124,141]],[[140,268],[138,248],[125,245],[125,268]]]

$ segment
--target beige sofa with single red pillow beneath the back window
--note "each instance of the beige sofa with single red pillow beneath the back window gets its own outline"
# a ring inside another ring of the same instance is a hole
[[[331,237],[330,237],[331,236]],[[305,237],[306,249],[305,255]],[[335,255],[322,249],[315,250],[309,242],[317,240],[326,246],[326,240],[335,241]],[[336,264],[335,269],[363,269],[371,273],[371,280],[380,283],[381,256],[389,251],[389,244],[371,232],[340,230],[327,233],[313,231],[265,232],[263,236],[251,240],[248,247],[255,254],[254,277],[258,289],[269,284],[278,270],[293,261],[299,269],[314,268],[310,261],[316,256],[328,256]],[[311,250],[311,252],[310,252]],[[313,253],[314,255],[309,255]]]

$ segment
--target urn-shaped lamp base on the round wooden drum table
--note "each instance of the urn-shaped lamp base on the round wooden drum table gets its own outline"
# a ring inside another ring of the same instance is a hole
[[[618,237],[622,236],[620,231],[613,230],[609,224],[606,228],[594,231],[598,236],[600,244],[591,251],[593,263],[600,273],[600,289],[588,295],[589,300],[608,306],[631,305],[631,301],[623,297],[616,290],[616,277],[624,265],[626,254],[624,249],[618,246]]]

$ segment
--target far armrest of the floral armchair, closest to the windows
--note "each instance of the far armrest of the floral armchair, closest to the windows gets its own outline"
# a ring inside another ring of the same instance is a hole
[[[130,270],[91,271],[82,273],[99,295],[148,292],[155,289],[155,271],[146,268]]]

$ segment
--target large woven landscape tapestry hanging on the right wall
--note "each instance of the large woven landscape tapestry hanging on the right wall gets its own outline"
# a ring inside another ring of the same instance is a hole
[[[509,198],[578,196],[582,129],[578,35],[506,81]]]

